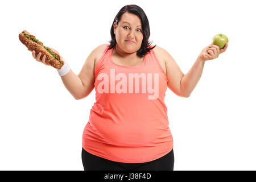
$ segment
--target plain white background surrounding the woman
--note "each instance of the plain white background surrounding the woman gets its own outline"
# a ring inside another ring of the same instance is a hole
[[[110,40],[115,15],[142,7],[152,45],[187,73],[216,34],[226,52],[205,63],[189,98],[166,92],[175,170],[255,170],[254,1],[3,1],[1,16],[1,170],[83,170],[82,131],[95,90],[75,100],[57,71],[20,43],[23,30],[55,48],[80,72],[89,53]]]

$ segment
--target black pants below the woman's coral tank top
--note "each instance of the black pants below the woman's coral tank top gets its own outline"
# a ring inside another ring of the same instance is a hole
[[[85,171],[173,171],[174,150],[151,162],[119,163],[92,155],[82,148],[82,165]]]

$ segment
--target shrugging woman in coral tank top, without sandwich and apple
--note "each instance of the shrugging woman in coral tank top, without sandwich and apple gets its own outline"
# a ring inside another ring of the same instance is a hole
[[[88,96],[95,86],[96,102],[82,135],[84,169],[173,170],[166,88],[189,97],[205,61],[218,57],[228,44],[223,49],[205,47],[184,75],[165,49],[148,43],[150,27],[141,7],[122,7],[110,33],[110,44],[95,48],[78,76],[69,66],[57,70],[76,100]],[[40,53],[36,56],[32,51],[32,55],[48,65],[45,56],[41,60]]]

